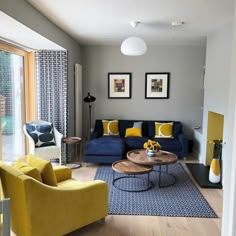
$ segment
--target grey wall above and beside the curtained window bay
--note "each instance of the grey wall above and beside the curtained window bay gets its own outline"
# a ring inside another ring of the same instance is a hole
[[[69,135],[74,135],[74,64],[80,63],[79,44],[26,0],[0,0],[0,10],[68,50]]]

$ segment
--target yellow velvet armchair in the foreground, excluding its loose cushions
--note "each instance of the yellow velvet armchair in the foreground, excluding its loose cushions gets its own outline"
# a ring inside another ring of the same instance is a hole
[[[11,200],[11,227],[17,236],[62,236],[107,216],[104,181],[77,181],[66,167],[57,168],[55,175],[57,187],[0,162],[2,190]]]

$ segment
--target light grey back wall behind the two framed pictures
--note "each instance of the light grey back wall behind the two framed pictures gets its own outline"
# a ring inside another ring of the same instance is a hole
[[[91,92],[97,98],[93,120],[180,120],[191,135],[191,127],[202,124],[205,52],[203,46],[148,46],[144,56],[128,57],[116,46],[82,47],[83,97]],[[108,72],[132,73],[131,99],[108,99]],[[145,99],[145,72],[170,72],[169,99]],[[84,103],[83,127],[87,115]]]

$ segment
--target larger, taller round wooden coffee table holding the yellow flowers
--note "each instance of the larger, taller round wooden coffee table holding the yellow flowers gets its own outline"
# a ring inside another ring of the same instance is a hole
[[[168,172],[168,166],[172,163],[176,163],[178,160],[177,156],[174,153],[160,150],[159,152],[156,153],[154,157],[149,157],[145,149],[135,149],[127,152],[127,158],[133,163],[139,165],[146,165],[146,166],[158,165],[159,170],[153,169],[153,171],[159,172],[158,184],[160,188],[169,187],[176,183],[176,177]],[[165,172],[162,170],[163,165],[166,166]],[[163,174],[171,177],[173,181],[170,184],[162,185],[161,180]]]

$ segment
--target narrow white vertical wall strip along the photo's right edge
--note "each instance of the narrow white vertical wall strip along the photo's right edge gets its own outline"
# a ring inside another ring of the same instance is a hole
[[[236,2],[236,1],[235,1]],[[235,6],[236,10],[236,6]],[[236,11],[235,11],[236,12]],[[224,161],[222,236],[236,235],[236,14],[233,20],[230,61],[229,103]]]

